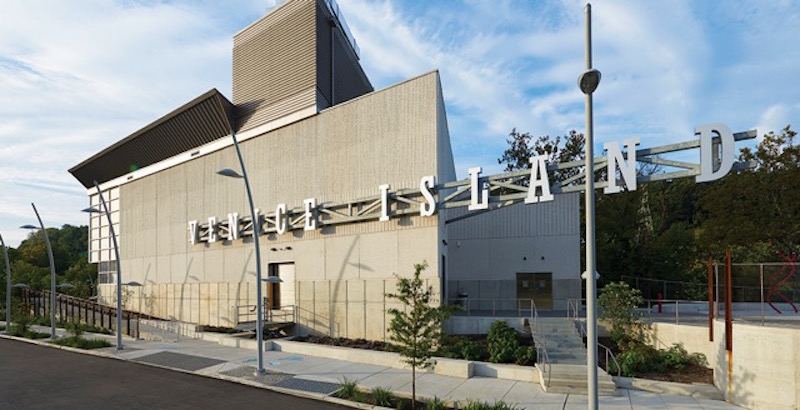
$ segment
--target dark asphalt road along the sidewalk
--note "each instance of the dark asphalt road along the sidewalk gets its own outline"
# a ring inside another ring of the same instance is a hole
[[[0,339],[0,409],[345,409],[224,380]]]

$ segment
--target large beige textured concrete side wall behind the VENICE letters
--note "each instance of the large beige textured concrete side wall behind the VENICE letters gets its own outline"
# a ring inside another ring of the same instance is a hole
[[[432,72],[242,142],[255,205],[266,214],[278,203],[301,207],[310,197],[325,203],[374,196],[384,183],[392,191],[418,189],[424,175],[445,182],[455,170],[442,106]],[[120,187],[122,271],[126,281],[144,284],[128,306],[232,326],[233,307],[255,303],[251,239],[188,242],[190,220],[247,215],[243,183],[216,174],[226,167],[236,168],[232,147]],[[295,263],[301,325],[383,339],[391,306],[383,295],[394,291],[395,273],[408,275],[425,260],[424,277],[439,289],[439,260],[447,251],[442,224],[438,215],[407,216],[264,235],[262,269]]]

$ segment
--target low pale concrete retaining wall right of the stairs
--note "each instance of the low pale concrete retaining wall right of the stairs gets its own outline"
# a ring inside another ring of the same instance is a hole
[[[656,323],[659,347],[683,343],[706,355],[714,384],[727,401],[752,409],[800,408],[800,330],[733,324],[733,354],[725,350],[725,322],[714,321],[714,341],[707,326]]]

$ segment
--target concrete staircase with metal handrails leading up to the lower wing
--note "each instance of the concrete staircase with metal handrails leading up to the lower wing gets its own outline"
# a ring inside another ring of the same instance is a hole
[[[533,327],[536,345],[546,344],[550,366],[537,364],[544,391],[561,394],[588,394],[586,347],[575,324],[567,318],[539,318]],[[549,372],[549,374],[548,374]],[[597,368],[597,392],[601,396],[617,396],[614,380]]]

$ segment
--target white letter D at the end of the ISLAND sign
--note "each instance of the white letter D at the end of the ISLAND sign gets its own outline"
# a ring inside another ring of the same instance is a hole
[[[700,134],[700,175],[696,182],[715,181],[724,177],[733,168],[736,161],[733,144],[733,133],[723,124],[706,124],[694,129],[695,135]],[[719,158],[719,169],[714,171],[714,134],[719,136],[722,152]]]

